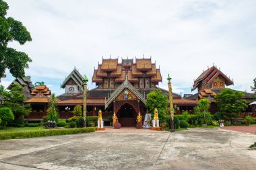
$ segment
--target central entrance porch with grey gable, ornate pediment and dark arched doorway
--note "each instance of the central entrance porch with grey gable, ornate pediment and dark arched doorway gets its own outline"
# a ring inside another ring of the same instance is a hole
[[[126,78],[110,95],[105,103],[105,109],[110,105],[113,105],[113,113],[117,114],[122,126],[135,126],[137,114],[143,111],[141,108],[145,108],[146,99]]]

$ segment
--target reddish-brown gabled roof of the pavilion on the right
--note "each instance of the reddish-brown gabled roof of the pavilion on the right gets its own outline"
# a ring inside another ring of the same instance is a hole
[[[207,69],[206,71],[203,71],[199,77],[194,81],[193,88],[191,91],[195,90],[200,83],[203,83],[203,85],[208,85],[214,81],[218,76],[221,76],[225,80],[225,85],[233,85],[234,82],[229,79],[222,71],[217,69],[215,66],[211,67],[210,69]]]

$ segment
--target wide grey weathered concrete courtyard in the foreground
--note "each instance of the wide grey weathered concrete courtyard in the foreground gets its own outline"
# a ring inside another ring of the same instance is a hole
[[[255,169],[255,141],[218,128],[0,140],[0,169]]]

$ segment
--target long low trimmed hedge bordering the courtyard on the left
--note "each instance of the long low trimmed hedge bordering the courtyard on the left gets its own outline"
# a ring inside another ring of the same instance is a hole
[[[72,129],[45,129],[45,130],[36,130],[36,131],[25,131],[25,132],[8,132],[1,133],[0,140],[11,139],[11,138],[34,138],[41,136],[55,136],[63,134],[79,134],[79,133],[88,133],[94,132],[96,128],[72,128]]]

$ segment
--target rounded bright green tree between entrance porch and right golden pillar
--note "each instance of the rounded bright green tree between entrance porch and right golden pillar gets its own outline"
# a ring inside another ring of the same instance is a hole
[[[167,111],[167,96],[160,89],[150,91],[147,95],[146,107],[153,114],[155,108],[158,110],[160,123],[164,122],[164,115]]]

